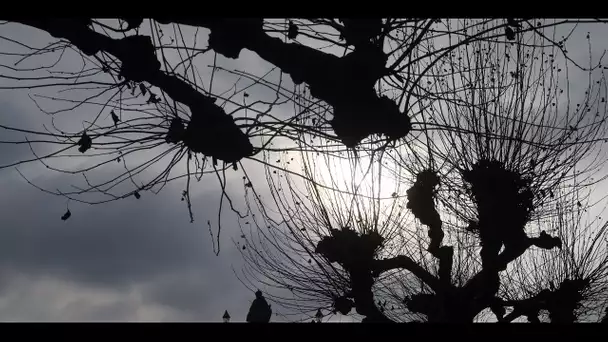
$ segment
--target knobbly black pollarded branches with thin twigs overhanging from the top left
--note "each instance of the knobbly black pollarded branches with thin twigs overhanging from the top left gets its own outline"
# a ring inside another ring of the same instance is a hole
[[[422,97],[450,98],[427,83],[458,47],[503,45],[530,34],[538,46],[556,46],[567,56],[564,40],[546,32],[579,21],[17,21],[55,38],[40,47],[33,38],[30,44],[12,37],[15,23],[4,23],[2,89],[46,91],[31,97],[51,120],[40,130],[2,123],[19,133],[3,143],[28,144],[33,152],[31,159],[3,166],[40,161],[50,170],[82,175],[75,189],[45,190],[86,203],[139,198],[185,179],[191,209],[191,178],[217,174],[225,190],[226,170],[253,164],[242,161],[259,163],[262,151],[323,152],[302,141],[304,133],[348,148],[365,148],[362,141],[399,145],[424,130],[424,122],[412,120],[424,109]],[[268,70],[226,66],[255,57],[251,52]],[[80,110],[91,115],[60,118]],[[66,161],[77,156],[84,162]],[[100,179],[91,175],[102,168],[111,172]]]

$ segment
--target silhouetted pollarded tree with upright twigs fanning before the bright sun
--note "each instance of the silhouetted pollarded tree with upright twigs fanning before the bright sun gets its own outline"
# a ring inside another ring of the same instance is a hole
[[[573,196],[605,177],[603,69],[591,60],[575,92],[559,47],[542,47],[532,34],[514,39],[461,46],[429,68],[436,82],[420,100],[424,130],[402,146],[346,159],[331,144],[325,159],[304,153],[303,185],[269,169],[272,199],[248,190],[258,216],[242,236],[246,279],[286,290],[274,300],[289,309],[355,309],[375,322],[471,322],[488,310],[509,321],[524,303],[550,312],[559,298],[602,299],[603,257],[595,253],[605,246],[568,238],[583,234],[580,217],[558,231],[551,219],[585,208]],[[602,229],[585,234],[606,237]],[[580,248],[591,271],[566,271],[553,288],[543,288],[546,272],[516,267],[534,265],[540,250],[554,263],[548,270],[571,269],[564,255]],[[522,292],[516,275],[538,292]],[[577,305],[550,319],[572,320]],[[537,321],[538,310],[523,315]]]

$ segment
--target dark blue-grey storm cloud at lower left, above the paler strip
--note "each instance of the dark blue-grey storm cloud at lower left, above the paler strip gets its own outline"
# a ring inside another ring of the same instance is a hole
[[[66,209],[64,200],[6,178],[1,186],[0,298],[14,291],[7,277],[21,274],[47,275],[117,293],[136,287],[142,305],[160,305],[176,312],[164,319],[219,319],[217,312],[227,306],[235,306],[233,311],[247,307],[242,301],[249,294],[231,269],[239,267],[239,255],[229,239],[235,236],[229,216],[224,219],[223,252],[219,257],[212,252],[206,220],[217,215],[217,191],[193,199],[199,218],[194,224],[189,223],[183,202],[170,196],[178,193],[171,187],[140,200],[129,198],[101,206],[71,203],[72,217],[64,222],[59,218]],[[235,298],[239,302],[231,303]],[[85,302],[64,309],[77,310]],[[120,302],[92,305],[87,308],[89,319],[104,320],[137,307]]]

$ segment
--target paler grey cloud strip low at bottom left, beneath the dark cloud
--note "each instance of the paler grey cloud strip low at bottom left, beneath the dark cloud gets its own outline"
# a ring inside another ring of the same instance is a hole
[[[169,281],[157,279],[128,289],[83,286],[17,271],[3,274],[10,279],[0,291],[0,321],[220,321],[224,310],[234,321],[243,321],[251,297],[242,291],[233,296],[237,291],[231,286],[209,294],[202,277],[192,274],[175,274]]]

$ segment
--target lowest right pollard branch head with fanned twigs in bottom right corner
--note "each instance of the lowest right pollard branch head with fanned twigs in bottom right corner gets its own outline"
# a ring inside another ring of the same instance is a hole
[[[581,202],[582,201],[582,202]],[[578,193],[556,204],[555,215],[542,223],[559,237],[559,250],[532,250],[515,260],[499,291],[512,308],[511,322],[597,322],[608,304],[608,223],[603,208],[589,210]],[[595,214],[592,212],[595,211]]]

